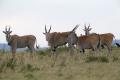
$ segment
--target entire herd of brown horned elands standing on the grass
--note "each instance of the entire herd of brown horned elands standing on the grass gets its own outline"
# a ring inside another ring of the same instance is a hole
[[[84,32],[85,35],[77,36],[75,33],[76,29],[79,25],[76,25],[71,31],[67,32],[50,32],[51,26],[49,30],[47,30],[45,25],[45,35],[46,41],[48,42],[48,46],[50,46],[52,52],[56,52],[56,49],[59,46],[63,46],[68,44],[70,53],[72,54],[73,49],[77,48],[80,52],[84,53],[85,49],[92,49],[95,53],[100,51],[101,48],[107,47],[108,53],[112,51],[112,41],[114,35],[112,33],[105,33],[105,34],[97,34],[97,33],[90,33],[92,28],[90,25],[86,27],[84,25]],[[25,48],[31,50],[32,53],[35,52],[35,43],[36,37],[34,35],[11,35],[12,31],[10,26],[5,27],[5,31],[3,33],[6,35],[6,41],[8,45],[11,47],[12,51],[12,58],[15,58],[15,53],[17,48]],[[36,43],[37,44],[37,43]],[[37,46],[37,45],[36,45]]]

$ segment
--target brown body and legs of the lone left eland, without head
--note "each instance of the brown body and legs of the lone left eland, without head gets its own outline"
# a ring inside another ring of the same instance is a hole
[[[28,47],[31,50],[31,52],[34,52],[35,41],[36,41],[36,37],[33,35],[26,35],[26,36],[11,35],[11,40],[8,43],[8,45],[11,46],[13,58],[15,57],[17,48]]]

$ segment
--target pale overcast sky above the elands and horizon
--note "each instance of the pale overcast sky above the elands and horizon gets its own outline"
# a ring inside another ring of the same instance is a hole
[[[0,43],[6,43],[6,25],[12,34],[35,35],[40,47],[47,46],[45,25],[51,32],[66,32],[75,25],[77,35],[84,34],[84,24],[91,32],[113,33],[120,39],[120,0],[0,0]]]

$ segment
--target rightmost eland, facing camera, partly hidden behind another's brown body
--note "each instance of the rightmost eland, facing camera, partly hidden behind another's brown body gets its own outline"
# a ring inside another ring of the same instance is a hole
[[[91,29],[92,28],[90,28],[90,24],[88,27],[86,27],[85,25],[85,28],[83,29],[85,31],[85,35],[91,35],[90,34]],[[112,33],[104,33],[104,34],[99,34],[99,36],[100,36],[101,47],[104,48],[104,46],[106,46],[108,49],[108,52],[111,53],[112,41],[113,41],[114,35]]]

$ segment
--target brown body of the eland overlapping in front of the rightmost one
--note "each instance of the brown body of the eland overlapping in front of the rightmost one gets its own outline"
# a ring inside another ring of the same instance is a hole
[[[76,43],[76,47],[80,49],[80,52],[84,53],[85,49],[92,49],[93,51],[97,51],[98,46],[100,45],[100,37],[98,34],[93,35],[82,35],[78,37],[78,41]]]

